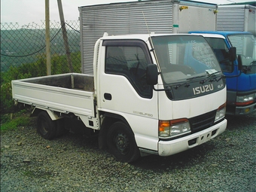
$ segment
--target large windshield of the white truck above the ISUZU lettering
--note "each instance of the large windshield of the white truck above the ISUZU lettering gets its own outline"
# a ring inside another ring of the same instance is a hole
[[[218,60],[202,36],[156,36],[152,42],[165,84],[221,74]]]

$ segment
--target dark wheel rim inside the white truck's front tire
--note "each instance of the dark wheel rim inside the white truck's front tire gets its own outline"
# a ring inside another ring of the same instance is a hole
[[[114,137],[114,145],[121,154],[127,154],[129,152],[129,139],[123,133],[117,133]]]

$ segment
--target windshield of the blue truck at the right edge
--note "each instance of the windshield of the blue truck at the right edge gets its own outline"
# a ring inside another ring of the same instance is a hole
[[[256,41],[254,35],[229,35],[232,47],[236,47],[236,54],[242,58],[243,66],[256,65]]]

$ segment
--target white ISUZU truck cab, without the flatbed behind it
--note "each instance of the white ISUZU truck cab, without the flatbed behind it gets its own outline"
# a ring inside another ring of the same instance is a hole
[[[126,148],[130,137],[121,131],[125,126],[141,154],[160,156],[193,148],[226,129],[221,68],[200,35],[105,36],[95,47],[99,117],[102,125],[117,121],[109,130],[101,127],[99,141],[116,158],[133,159]]]

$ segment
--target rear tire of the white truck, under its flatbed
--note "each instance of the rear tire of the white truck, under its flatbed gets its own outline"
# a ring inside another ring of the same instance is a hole
[[[44,139],[50,140],[56,136],[56,122],[50,119],[46,111],[38,114],[37,126],[38,133]]]

